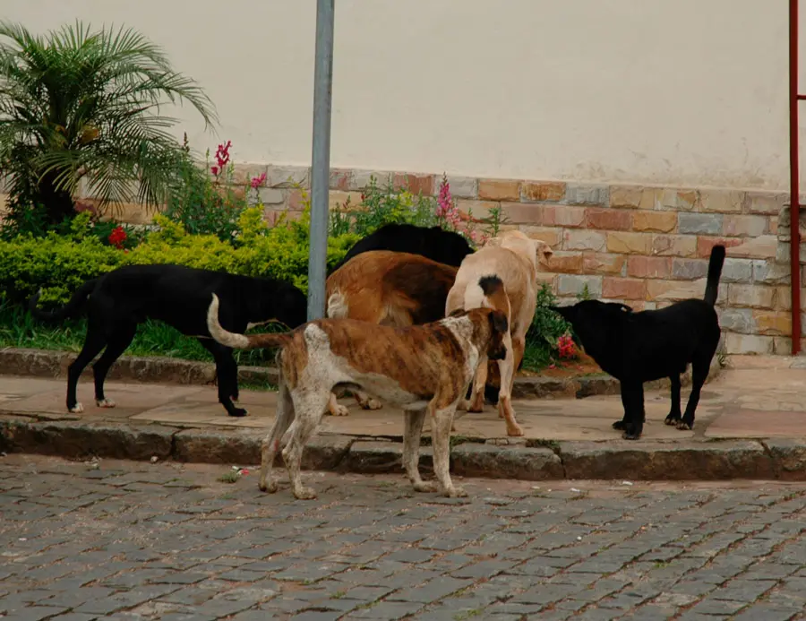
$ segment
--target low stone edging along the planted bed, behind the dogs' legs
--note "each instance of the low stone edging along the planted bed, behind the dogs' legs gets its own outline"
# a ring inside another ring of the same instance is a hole
[[[27,375],[49,379],[67,376],[67,367],[76,354],[46,349],[0,349],[0,375]],[[151,384],[210,384],[215,379],[215,365],[179,358],[124,356],[109,369],[108,379],[127,380]],[[716,357],[711,364],[707,381],[721,372]],[[91,376],[87,367],[82,376]],[[238,367],[241,381],[277,384],[275,367]],[[690,370],[682,375],[683,386],[690,384]],[[644,384],[645,390],[666,388],[669,380]],[[552,377],[516,377],[512,388],[515,399],[553,399],[576,397],[583,399],[597,394],[619,394],[619,383],[610,375],[587,375],[573,379]]]

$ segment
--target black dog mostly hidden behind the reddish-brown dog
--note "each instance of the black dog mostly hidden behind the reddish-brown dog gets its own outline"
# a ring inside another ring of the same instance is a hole
[[[421,254],[424,257],[459,267],[467,254],[473,253],[473,248],[467,239],[440,227],[416,227],[413,224],[385,224],[370,235],[360,239],[347,251],[332,272],[347,263],[356,254],[369,250],[390,250],[392,252]]]

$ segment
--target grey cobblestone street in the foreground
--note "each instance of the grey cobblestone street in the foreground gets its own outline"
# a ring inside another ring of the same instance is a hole
[[[806,486],[306,472],[260,494],[226,467],[0,461],[6,619],[804,619]]]

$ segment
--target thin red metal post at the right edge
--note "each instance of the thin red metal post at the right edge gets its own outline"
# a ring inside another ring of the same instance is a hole
[[[790,275],[792,280],[792,355],[801,350],[801,190],[798,101],[798,0],[789,0],[789,183]]]

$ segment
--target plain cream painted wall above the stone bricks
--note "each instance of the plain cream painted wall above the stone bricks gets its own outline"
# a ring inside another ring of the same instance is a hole
[[[787,187],[786,0],[336,4],[335,167]],[[38,31],[136,27],[206,87],[236,160],[310,161],[314,0],[2,8]],[[214,150],[189,118],[179,134]]]

